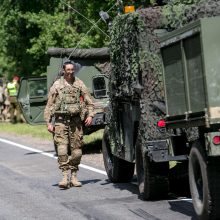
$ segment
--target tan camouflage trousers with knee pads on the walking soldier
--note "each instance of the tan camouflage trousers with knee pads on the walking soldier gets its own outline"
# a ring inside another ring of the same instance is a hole
[[[57,145],[58,163],[62,171],[77,171],[82,157],[83,130],[79,116],[62,117],[55,121],[54,142]],[[70,148],[70,155],[68,149]]]

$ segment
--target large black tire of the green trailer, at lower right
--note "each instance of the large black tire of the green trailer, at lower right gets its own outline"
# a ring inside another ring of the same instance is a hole
[[[220,158],[207,158],[202,141],[196,141],[189,156],[189,184],[199,219],[220,219]]]

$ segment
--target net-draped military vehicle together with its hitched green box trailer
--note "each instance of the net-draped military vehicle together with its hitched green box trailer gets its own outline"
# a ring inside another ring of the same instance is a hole
[[[168,5],[121,15],[110,27],[108,178],[128,182],[136,165],[143,199],[164,198],[176,161],[188,172],[199,219],[220,219],[219,6],[187,5],[184,25]]]

